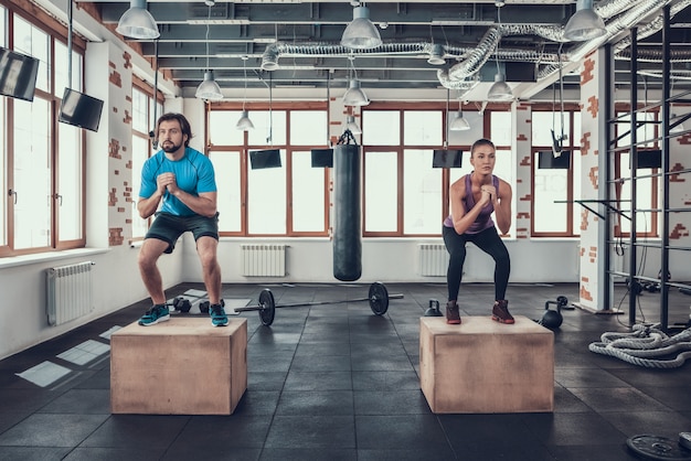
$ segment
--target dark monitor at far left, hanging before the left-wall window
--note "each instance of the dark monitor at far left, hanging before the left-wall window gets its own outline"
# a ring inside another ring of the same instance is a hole
[[[33,100],[39,60],[0,46],[0,94]]]

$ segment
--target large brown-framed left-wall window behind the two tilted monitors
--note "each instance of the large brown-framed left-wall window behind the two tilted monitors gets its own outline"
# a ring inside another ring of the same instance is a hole
[[[46,22],[53,30],[64,28],[42,14],[31,20],[22,14],[0,8],[2,45],[40,61],[33,101],[3,97],[0,103],[0,181],[8,199],[0,205],[2,256],[75,248],[86,242],[85,137],[81,129],[57,122],[64,88],[82,90],[84,44],[76,40],[68,56],[66,40],[42,29]]]

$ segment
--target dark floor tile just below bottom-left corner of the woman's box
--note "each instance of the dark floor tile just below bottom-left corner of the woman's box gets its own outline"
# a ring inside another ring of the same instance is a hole
[[[434,415],[355,416],[359,450],[443,450],[448,441]]]

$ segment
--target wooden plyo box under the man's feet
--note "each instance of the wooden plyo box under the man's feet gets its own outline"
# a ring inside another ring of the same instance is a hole
[[[135,322],[110,336],[114,414],[231,415],[246,389],[246,319]]]

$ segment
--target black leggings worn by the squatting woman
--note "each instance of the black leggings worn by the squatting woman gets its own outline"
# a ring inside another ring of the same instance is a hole
[[[496,227],[489,227],[478,234],[458,235],[453,227],[443,226],[442,236],[444,245],[449,253],[448,269],[446,271],[446,283],[448,288],[448,300],[458,299],[460,280],[463,278],[464,262],[466,261],[466,243],[472,242],[478,248],[487,253],[495,259],[495,299],[502,300],[509,285],[509,274],[511,272],[511,260],[509,250],[497,234]]]

